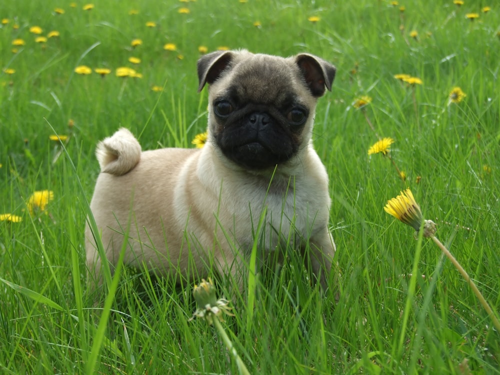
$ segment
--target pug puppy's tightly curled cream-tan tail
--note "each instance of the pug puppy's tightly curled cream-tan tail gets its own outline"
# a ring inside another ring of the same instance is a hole
[[[120,176],[130,171],[140,160],[140,144],[124,127],[97,144],[95,155],[100,171]]]

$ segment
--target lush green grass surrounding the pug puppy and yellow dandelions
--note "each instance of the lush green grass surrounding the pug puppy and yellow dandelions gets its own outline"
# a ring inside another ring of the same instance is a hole
[[[250,372],[500,373],[500,332],[467,283],[430,240],[415,241],[409,227],[383,212],[387,199],[409,186],[498,316],[494,1],[459,7],[407,0],[400,1],[403,12],[383,0],[145,0],[95,3],[89,11],[82,5],[21,0],[0,10],[8,19],[0,28],[0,68],[15,70],[0,71],[0,213],[22,217],[0,221],[3,373],[237,372],[216,331],[189,320],[193,285],[179,288],[123,268],[102,296],[103,310],[85,288],[83,227],[98,173],[95,144],[126,126],[144,149],[190,147],[206,126],[206,91],[196,93],[199,45],[308,51],[337,67],[332,93],[318,104],[314,145],[330,175],[339,301],[310,285],[293,257],[279,273],[246,279],[252,303],[240,296],[235,316],[223,324]],[[190,12],[179,14],[185,5]],[[486,5],[492,9],[484,13]],[[55,14],[56,7],[64,13]],[[479,18],[466,19],[470,12]],[[311,15],[320,19],[311,22]],[[60,35],[35,43],[32,25]],[[11,53],[15,38],[25,45]],[[142,44],[132,48],[134,38]],[[176,50],[164,50],[165,43]],[[114,76],[117,67],[131,66],[130,56],[141,59],[135,69],[142,78]],[[112,72],[76,74],[83,64]],[[408,87],[397,73],[423,84]],[[454,86],[467,96],[448,105]],[[361,95],[372,102],[355,109]],[[404,182],[390,160],[367,155],[377,138],[363,110],[379,136],[395,139],[390,155]],[[53,133],[69,135],[64,150],[48,139]],[[43,189],[54,199],[30,216],[25,202]],[[217,281],[220,296],[231,284]]]

